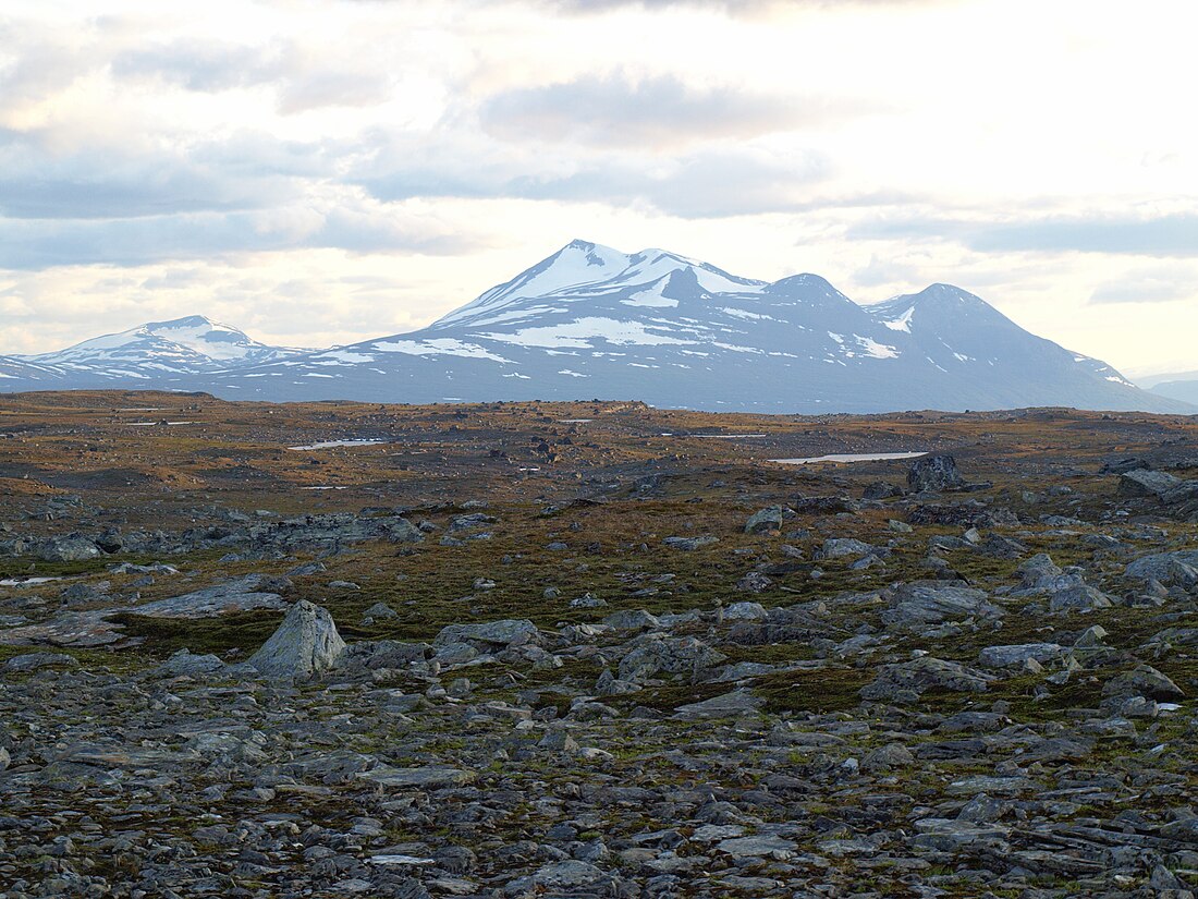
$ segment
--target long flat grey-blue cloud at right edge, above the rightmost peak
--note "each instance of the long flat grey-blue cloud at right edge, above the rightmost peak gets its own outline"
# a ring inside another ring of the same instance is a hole
[[[851,239],[956,241],[982,253],[1114,253],[1198,258],[1198,213],[1157,217],[1060,216],[1015,222],[909,217],[859,223]]]

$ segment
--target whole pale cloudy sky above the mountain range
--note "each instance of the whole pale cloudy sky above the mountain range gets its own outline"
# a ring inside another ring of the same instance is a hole
[[[1198,368],[1176,0],[6,0],[0,354],[422,327],[574,239]]]

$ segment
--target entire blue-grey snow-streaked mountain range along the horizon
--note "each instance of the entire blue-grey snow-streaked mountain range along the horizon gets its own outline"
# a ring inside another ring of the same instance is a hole
[[[0,385],[266,400],[640,399],[807,414],[1198,411],[948,284],[860,306],[816,274],[757,280],[661,249],[625,254],[587,241],[419,331],[300,350],[190,316],[58,352],[0,356]]]

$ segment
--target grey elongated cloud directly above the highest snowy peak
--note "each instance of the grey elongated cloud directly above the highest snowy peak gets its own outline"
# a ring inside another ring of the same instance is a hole
[[[674,76],[609,74],[496,95],[483,103],[479,119],[506,140],[665,147],[813,127],[864,109],[858,101],[694,88]]]

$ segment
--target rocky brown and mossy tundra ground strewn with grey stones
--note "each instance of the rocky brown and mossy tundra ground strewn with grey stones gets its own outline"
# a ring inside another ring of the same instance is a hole
[[[1196,435],[0,398],[0,897],[1191,897]]]

